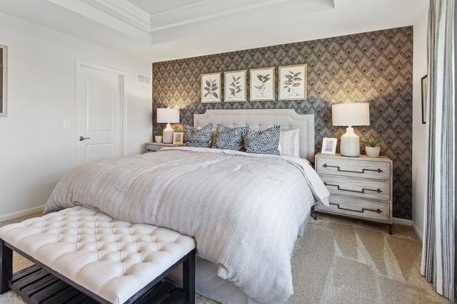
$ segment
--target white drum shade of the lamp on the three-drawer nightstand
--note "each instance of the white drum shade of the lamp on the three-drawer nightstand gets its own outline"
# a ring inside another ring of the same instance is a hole
[[[336,103],[331,106],[333,125],[370,125],[369,103]]]

